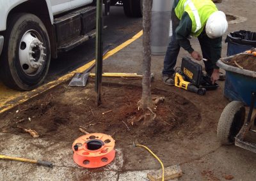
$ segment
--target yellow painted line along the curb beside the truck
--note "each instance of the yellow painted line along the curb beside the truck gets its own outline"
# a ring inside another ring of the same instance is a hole
[[[131,44],[133,41],[140,38],[142,34],[142,31],[140,31],[139,33],[134,35],[130,40],[127,40],[118,47],[114,48],[113,50],[110,50],[106,55],[104,55],[103,60],[108,59],[108,57],[110,57],[111,55],[114,55],[116,54],[116,52],[127,47],[127,45]],[[77,68],[76,70],[64,76],[61,76],[57,80],[46,83],[38,87],[37,89],[29,92],[20,92],[15,91],[13,89],[9,89],[8,87],[5,87],[3,83],[0,82],[0,113],[6,112],[7,110],[10,110],[13,107],[19,105],[20,103],[24,103],[25,101],[28,101],[29,99],[34,98],[35,96],[38,96],[39,94],[42,94],[43,92],[48,91],[49,89],[52,89],[57,85],[60,85],[60,83],[72,78],[72,76],[74,76],[74,73],[83,72],[84,70],[90,68],[90,66],[92,66],[94,62],[95,60],[88,62],[87,64],[84,64],[84,66],[81,66],[80,68]]]

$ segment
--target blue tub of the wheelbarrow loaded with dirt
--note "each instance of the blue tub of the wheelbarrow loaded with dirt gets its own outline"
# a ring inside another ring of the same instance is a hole
[[[229,60],[230,58],[226,57],[216,63],[217,66],[226,71],[224,96],[230,101],[241,101],[244,105],[249,106],[252,92],[256,92],[256,72],[224,63]]]

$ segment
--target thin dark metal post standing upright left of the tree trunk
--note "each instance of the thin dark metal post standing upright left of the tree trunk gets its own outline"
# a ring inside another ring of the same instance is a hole
[[[102,0],[97,0],[97,16],[96,16],[96,76],[95,91],[97,93],[96,104],[101,104],[101,83],[102,83],[102,57],[103,57],[103,41],[102,41]]]

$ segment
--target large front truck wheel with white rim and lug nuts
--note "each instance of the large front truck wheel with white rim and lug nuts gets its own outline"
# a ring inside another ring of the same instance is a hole
[[[4,39],[0,61],[1,80],[12,89],[35,89],[44,82],[51,60],[45,25],[33,14],[13,14],[9,18]]]

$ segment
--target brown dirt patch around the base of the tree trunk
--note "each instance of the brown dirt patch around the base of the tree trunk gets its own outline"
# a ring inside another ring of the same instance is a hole
[[[83,127],[89,133],[109,134],[122,145],[127,140],[147,143],[170,140],[173,136],[193,136],[195,127],[201,122],[200,112],[190,101],[174,93],[153,89],[153,98],[166,98],[164,103],[157,105],[156,119],[150,124],[143,120],[131,123],[142,115],[138,111],[140,87],[104,86],[99,107],[95,106],[93,88],[92,84],[86,89],[63,85],[29,104],[20,105],[17,113],[2,115],[1,119],[4,122],[10,120],[10,124],[2,126],[0,131],[29,136],[17,127],[20,126],[36,130],[41,138],[74,141],[81,136],[79,127]],[[177,134],[170,136],[175,131]]]

